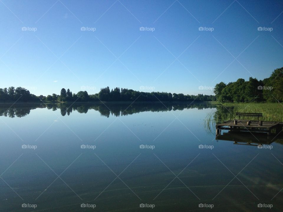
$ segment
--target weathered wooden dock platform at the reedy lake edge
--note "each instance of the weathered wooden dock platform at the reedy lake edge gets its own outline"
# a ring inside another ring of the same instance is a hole
[[[268,135],[278,134],[282,131],[282,122],[268,122],[256,120],[229,120],[216,125],[216,135],[220,130],[245,131],[245,132],[267,132]]]

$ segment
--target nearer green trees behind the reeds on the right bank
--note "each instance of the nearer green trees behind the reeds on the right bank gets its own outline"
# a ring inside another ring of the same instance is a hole
[[[236,82],[215,85],[214,93],[219,102],[282,102],[283,101],[283,67],[275,69],[270,77],[249,81],[238,79]]]

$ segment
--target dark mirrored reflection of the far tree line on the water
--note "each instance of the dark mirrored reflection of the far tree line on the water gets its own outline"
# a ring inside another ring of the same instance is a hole
[[[0,116],[6,117],[24,117],[36,108],[47,108],[49,110],[60,110],[61,115],[70,115],[73,111],[79,113],[87,113],[88,110],[96,110],[101,116],[125,116],[134,113],[151,111],[163,112],[171,110],[184,110],[197,108],[199,110],[206,108],[216,108],[217,105],[207,103],[153,103],[153,102],[138,102],[138,103],[48,103],[48,104],[18,104],[18,105],[0,105]]]

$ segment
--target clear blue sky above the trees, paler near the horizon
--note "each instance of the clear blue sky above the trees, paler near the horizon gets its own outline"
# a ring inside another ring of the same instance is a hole
[[[283,66],[282,11],[283,1],[1,0],[0,87],[213,94],[199,86]]]

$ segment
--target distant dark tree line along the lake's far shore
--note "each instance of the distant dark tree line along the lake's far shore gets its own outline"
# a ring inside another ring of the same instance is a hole
[[[138,101],[138,102],[162,102],[178,101],[178,102],[203,102],[203,101],[215,101],[214,95],[184,95],[182,93],[167,93],[167,92],[139,92],[127,88],[116,87],[111,89],[109,87],[101,88],[96,94],[89,95],[87,91],[79,91],[78,93],[72,93],[70,89],[62,88],[60,95],[53,93],[52,95],[35,96],[22,87],[9,87],[0,89],[0,100],[15,101],[59,101],[59,102],[88,102],[88,101]]]

